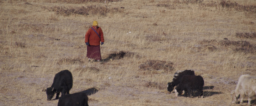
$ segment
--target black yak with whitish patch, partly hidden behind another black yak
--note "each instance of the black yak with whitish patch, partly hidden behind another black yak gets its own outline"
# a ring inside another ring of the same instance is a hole
[[[183,71],[177,71],[174,73],[174,78],[172,79],[172,82],[169,82],[167,84],[167,90],[169,92],[172,92],[175,86],[177,86],[180,83],[181,77],[184,75],[194,75],[194,71],[192,70],[183,70]]]

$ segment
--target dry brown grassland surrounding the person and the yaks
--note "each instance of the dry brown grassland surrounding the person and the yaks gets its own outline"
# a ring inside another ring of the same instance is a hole
[[[101,63],[86,57],[94,20]],[[0,106],[57,106],[42,90],[65,69],[89,106],[238,106],[230,91],[256,76],[256,1],[0,0]],[[204,98],[167,91],[186,69],[204,78]]]

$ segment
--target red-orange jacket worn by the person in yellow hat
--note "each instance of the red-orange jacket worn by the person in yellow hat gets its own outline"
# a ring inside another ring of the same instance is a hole
[[[95,33],[95,31],[98,33]],[[88,29],[88,31],[85,34],[85,43],[89,42],[90,45],[98,46],[100,45],[100,42],[104,42],[104,36],[103,32],[100,27],[98,29],[93,30],[92,27]]]

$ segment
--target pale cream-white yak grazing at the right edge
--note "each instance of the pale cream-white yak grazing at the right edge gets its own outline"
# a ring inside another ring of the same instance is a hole
[[[256,76],[241,75],[238,79],[238,84],[235,90],[231,92],[232,103],[243,102],[244,98],[248,98],[248,105],[251,105],[251,100],[256,98]]]

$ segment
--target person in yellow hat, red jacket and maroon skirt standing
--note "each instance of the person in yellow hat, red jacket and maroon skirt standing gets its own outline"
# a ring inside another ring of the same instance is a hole
[[[87,45],[87,55],[86,57],[100,61],[101,52],[100,44],[104,44],[104,36],[100,27],[98,27],[98,22],[94,21],[92,27],[88,29],[85,34],[85,44]]]

